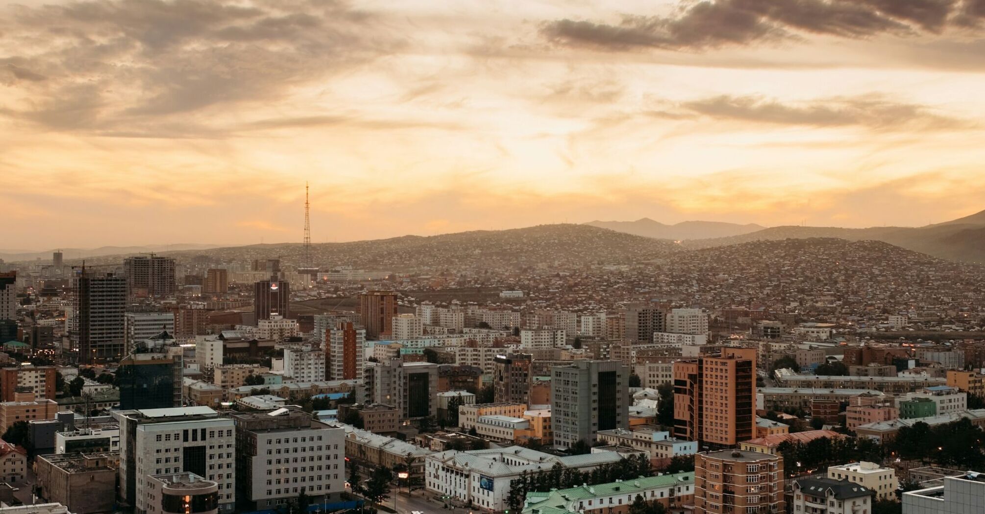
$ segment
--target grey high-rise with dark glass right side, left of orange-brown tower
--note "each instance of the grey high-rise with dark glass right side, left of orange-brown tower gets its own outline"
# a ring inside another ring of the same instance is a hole
[[[595,442],[599,430],[629,426],[629,368],[615,360],[575,360],[551,368],[556,448]]]

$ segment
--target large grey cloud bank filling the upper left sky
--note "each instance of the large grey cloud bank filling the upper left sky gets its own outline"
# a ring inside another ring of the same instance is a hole
[[[0,37],[23,52],[0,61],[0,83],[32,98],[2,112],[53,130],[153,136],[141,128],[152,118],[272,100],[400,45],[333,1],[91,0],[0,15]]]

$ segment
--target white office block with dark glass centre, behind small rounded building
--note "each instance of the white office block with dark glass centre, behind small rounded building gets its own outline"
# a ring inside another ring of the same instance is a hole
[[[125,504],[138,514],[152,512],[152,493],[161,490],[153,477],[193,473],[216,482],[219,512],[235,510],[231,418],[221,418],[208,407],[113,411],[112,415],[120,425],[119,495]]]

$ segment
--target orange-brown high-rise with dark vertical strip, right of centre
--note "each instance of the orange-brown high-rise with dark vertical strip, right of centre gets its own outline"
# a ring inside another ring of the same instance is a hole
[[[714,447],[755,438],[755,349],[674,363],[674,435]]]

